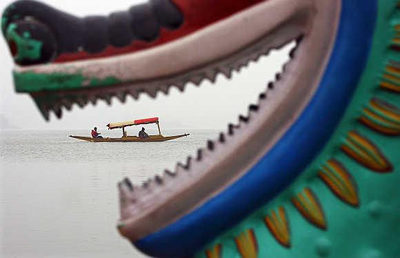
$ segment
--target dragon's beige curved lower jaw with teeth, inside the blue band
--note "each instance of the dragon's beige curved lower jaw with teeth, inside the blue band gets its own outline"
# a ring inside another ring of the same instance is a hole
[[[121,189],[122,219],[119,230],[122,235],[136,241],[168,226],[232,188],[235,182],[237,184],[239,179],[245,177],[246,172],[257,166],[293,125],[315,94],[330,56],[335,37],[332,31],[336,29],[338,13],[337,4],[327,5],[320,10],[319,15],[326,18],[321,19],[319,26],[312,28],[303,38],[294,58],[286,64],[283,74],[274,83],[274,90],[266,92],[257,108],[250,110],[248,117],[240,119],[239,125],[232,126],[228,134],[222,135],[222,139],[209,143],[208,150],[203,151],[196,161],[189,159],[186,166],[177,166],[177,175],[173,178],[165,175],[162,183],[150,181],[146,188],[134,188],[133,192]],[[252,46],[256,52],[250,52],[242,58],[248,61],[252,54],[257,57],[262,52],[257,52],[260,51],[259,46],[270,46],[268,43],[271,41],[271,38],[266,37],[266,41],[254,43]],[[290,181],[295,175],[289,171],[281,173],[279,177],[289,177]],[[270,189],[274,191],[283,186],[285,184],[278,183]],[[251,188],[245,188],[248,187]],[[252,197],[254,195],[246,198],[249,201],[248,208],[259,205],[259,199],[251,200]],[[247,213],[248,208],[240,212]],[[238,217],[243,216],[240,212]],[[236,221],[237,217],[234,217]],[[220,226],[224,228],[226,224]]]

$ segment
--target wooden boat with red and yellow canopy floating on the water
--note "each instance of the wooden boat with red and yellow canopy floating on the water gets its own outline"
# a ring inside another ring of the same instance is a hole
[[[159,135],[149,135],[148,138],[141,139],[137,136],[130,136],[126,134],[125,128],[127,126],[139,126],[142,124],[148,123],[156,123],[157,128],[159,129]],[[126,121],[126,122],[119,122],[119,123],[108,123],[107,125],[108,130],[122,129],[122,137],[121,138],[93,138],[93,137],[86,137],[86,136],[76,136],[70,135],[70,137],[74,139],[79,139],[82,141],[91,141],[91,142],[155,142],[155,141],[170,141],[173,139],[178,139],[181,137],[186,137],[190,134],[183,134],[183,135],[172,135],[172,136],[163,136],[161,135],[160,130],[160,123],[158,117],[146,118],[146,119],[138,119],[134,121]]]

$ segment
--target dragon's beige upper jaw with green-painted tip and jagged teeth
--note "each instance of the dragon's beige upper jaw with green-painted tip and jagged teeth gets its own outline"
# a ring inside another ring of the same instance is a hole
[[[137,98],[140,92],[154,97],[172,86],[183,90],[188,81],[214,81],[218,72],[229,77],[230,70],[243,65],[229,57],[265,35],[270,35],[265,52],[296,39],[306,31],[310,8],[306,0],[269,0],[186,37],[132,54],[17,66],[15,88],[30,93],[46,119],[50,111],[61,117],[62,109],[69,110],[73,103],[86,106],[97,99],[110,102],[114,96]]]

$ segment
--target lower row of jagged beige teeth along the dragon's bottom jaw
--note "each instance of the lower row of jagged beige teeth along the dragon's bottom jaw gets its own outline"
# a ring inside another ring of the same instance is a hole
[[[152,209],[151,207],[154,205],[163,204],[164,201],[168,202],[177,192],[177,186],[182,189],[190,188],[192,183],[205,177],[208,168],[214,166],[219,157],[223,157],[227,150],[231,150],[236,143],[241,142],[241,136],[246,135],[251,122],[257,120],[259,112],[266,108],[268,92],[274,89],[276,83],[279,84],[279,81],[283,80],[282,73],[285,74],[288,63],[294,58],[297,46],[299,46],[299,42],[290,51],[290,59],[283,65],[282,71],[275,75],[275,81],[267,84],[266,90],[259,95],[257,104],[249,106],[248,115],[239,115],[238,123],[230,123],[228,130],[221,132],[218,139],[207,141],[206,147],[198,149],[196,156],[189,156],[186,162],[177,163],[173,171],[164,170],[161,175],[154,175],[141,185],[134,185],[128,177],[119,182],[121,221],[123,223],[146,216],[146,210]],[[256,57],[255,60],[258,58]],[[247,64],[248,61],[243,63]]]

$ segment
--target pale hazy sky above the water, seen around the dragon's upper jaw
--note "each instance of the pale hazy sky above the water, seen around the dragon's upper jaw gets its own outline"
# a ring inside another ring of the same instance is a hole
[[[12,1],[0,0],[0,10],[4,10]],[[52,6],[79,16],[89,14],[108,14],[116,10],[125,10],[135,3],[143,1],[118,0],[43,0]],[[73,37],[73,35],[71,35]],[[189,85],[185,92],[170,90],[168,96],[159,93],[157,98],[141,95],[139,101],[130,97],[125,104],[112,99],[112,106],[99,101],[81,109],[77,106],[72,112],[63,112],[63,119],[51,117],[44,121],[34,102],[28,95],[16,94],[12,83],[12,59],[3,39],[0,40],[0,126],[6,123],[26,129],[80,129],[99,127],[101,130],[109,122],[128,121],[143,117],[160,117],[163,128],[218,128],[225,129],[228,122],[236,122],[239,113],[246,114],[250,103],[254,103],[268,80],[281,70],[288,59],[286,47],[274,51],[268,57],[251,63],[248,68],[234,72],[231,80],[219,75],[213,85],[203,82],[199,88]],[[250,69],[249,69],[250,68]]]

